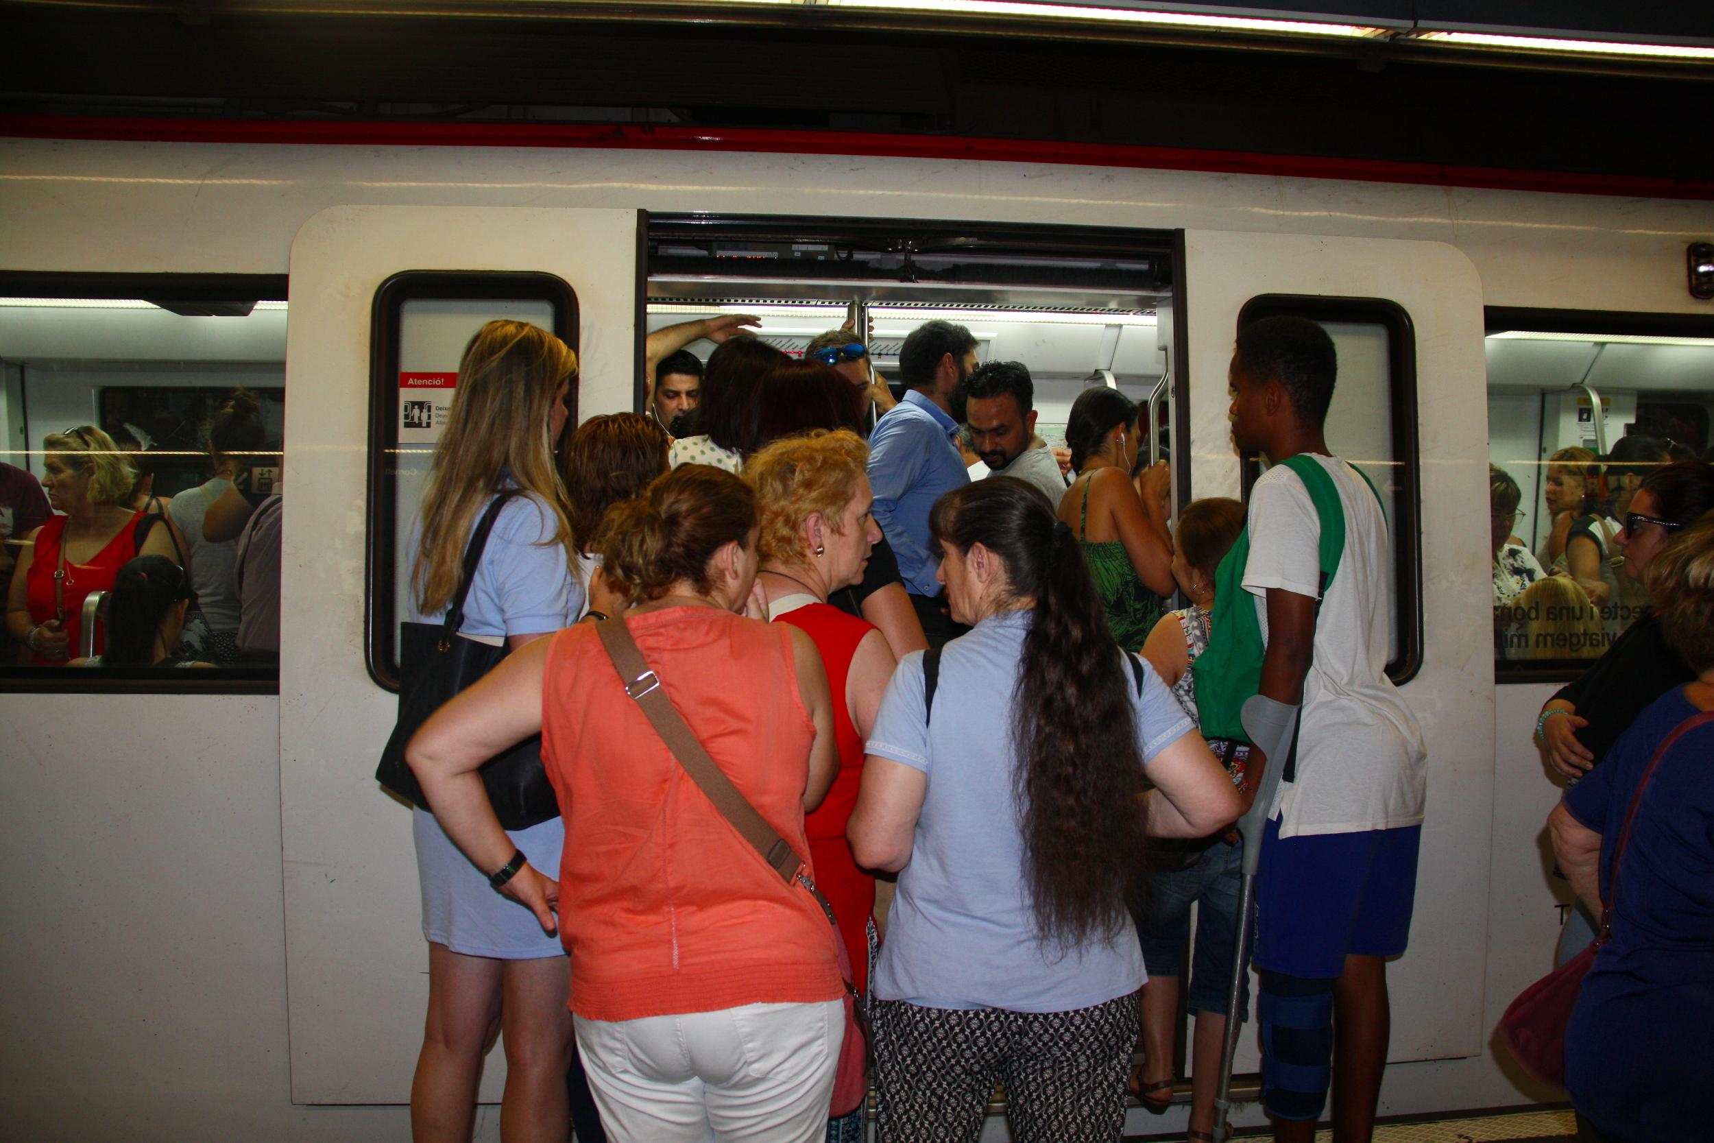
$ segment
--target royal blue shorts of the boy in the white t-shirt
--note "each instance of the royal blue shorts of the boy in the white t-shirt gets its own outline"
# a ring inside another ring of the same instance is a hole
[[[1411,937],[1421,826],[1262,838],[1256,968],[1328,978],[1345,956],[1397,956]]]

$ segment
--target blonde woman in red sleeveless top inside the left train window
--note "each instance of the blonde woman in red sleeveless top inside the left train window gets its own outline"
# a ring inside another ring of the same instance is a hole
[[[41,487],[63,514],[24,536],[5,625],[34,665],[63,667],[77,655],[89,593],[110,591],[132,557],[175,552],[168,530],[142,524],[144,514],[130,507],[135,471],[111,437],[79,425],[50,432],[41,447]]]

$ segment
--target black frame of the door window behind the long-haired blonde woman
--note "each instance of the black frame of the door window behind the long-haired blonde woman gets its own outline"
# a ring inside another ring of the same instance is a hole
[[[369,535],[363,545],[363,667],[375,685],[396,692],[394,581],[398,547],[399,355],[401,319],[411,302],[545,302],[554,310],[554,336],[578,351],[578,295],[562,278],[540,271],[399,271],[375,290],[370,307],[369,355]],[[454,363],[456,365],[456,363]],[[567,391],[567,430],[578,423],[578,386]]]

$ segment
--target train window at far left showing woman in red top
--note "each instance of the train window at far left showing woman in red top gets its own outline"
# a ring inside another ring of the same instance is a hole
[[[0,274],[0,687],[278,689],[285,284]]]

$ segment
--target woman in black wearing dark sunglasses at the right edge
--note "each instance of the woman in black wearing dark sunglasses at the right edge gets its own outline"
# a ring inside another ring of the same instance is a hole
[[[1683,461],[1657,468],[1644,478],[1621,521],[1616,545],[1625,552],[1625,564],[1620,574],[1647,583],[1661,548],[1709,511],[1714,511],[1714,464]],[[1637,715],[1692,679],[1695,673],[1668,646],[1661,619],[1649,608],[1580,679],[1548,699],[1536,721],[1536,742],[1548,764],[1575,781],[1594,769]],[[1561,960],[1592,937],[1592,919],[1573,910],[1560,937]]]

